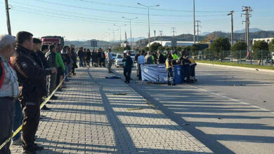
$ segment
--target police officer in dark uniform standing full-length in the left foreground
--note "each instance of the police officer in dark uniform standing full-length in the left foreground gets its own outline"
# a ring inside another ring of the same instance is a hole
[[[22,153],[36,153],[43,146],[34,144],[34,136],[37,132],[40,116],[41,80],[51,73],[56,73],[56,68],[41,69],[39,64],[29,55],[32,50],[32,34],[27,31],[19,31],[16,35],[16,55],[11,58],[18,75],[20,92],[20,104],[24,115],[22,124]]]

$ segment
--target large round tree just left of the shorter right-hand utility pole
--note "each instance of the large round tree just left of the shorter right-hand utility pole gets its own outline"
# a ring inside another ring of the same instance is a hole
[[[228,38],[219,37],[215,38],[214,41],[209,46],[209,50],[213,52],[216,59],[220,59],[223,61],[223,58],[230,55],[230,52],[225,52],[225,50],[230,50],[230,42]]]

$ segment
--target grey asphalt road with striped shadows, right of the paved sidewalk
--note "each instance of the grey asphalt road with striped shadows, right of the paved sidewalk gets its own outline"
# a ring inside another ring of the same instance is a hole
[[[136,69],[129,85],[214,153],[274,153],[274,73],[196,68],[195,85],[142,83]]]

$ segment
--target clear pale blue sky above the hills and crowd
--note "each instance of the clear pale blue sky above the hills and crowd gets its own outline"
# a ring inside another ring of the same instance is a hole
[[[11,31],[30,31],[34,37],[57,35],[67,40],[104,41],[148,37],[148,8],[150,36],[193,34],[193,0],[8,0]],[[200,20],[201,32],[231,31],[230,10],[234,10],[234,29],[244,29],[242,6],[252,7],[250,28],[274,30],[273,0],[195,0],[195,20]],[[0,34],[7,34],[4,1],[0,2]],[[122,18],[124,17],[124,18]]]

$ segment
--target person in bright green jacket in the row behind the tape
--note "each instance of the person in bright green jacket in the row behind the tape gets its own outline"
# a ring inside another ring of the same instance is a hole
[[[63,62],[63,59],[60,55],[59,52],[56,52],[56,67],[57,67],[57,77],[56,77],[56,86],[59,85],[60,80],[63,80],[64,78],[64,72],[65,72],[65,65]],[[59,90],[62,88],[63,86],[60,85]]]

